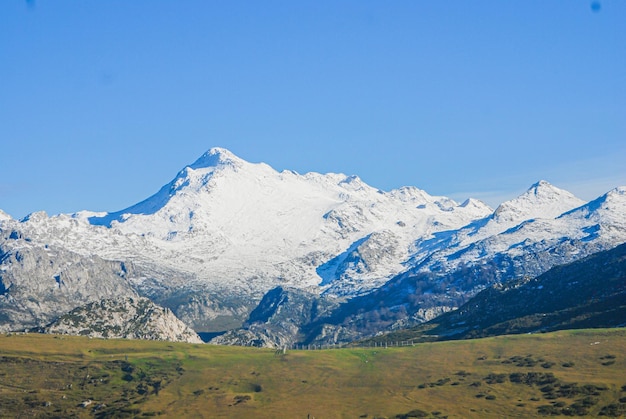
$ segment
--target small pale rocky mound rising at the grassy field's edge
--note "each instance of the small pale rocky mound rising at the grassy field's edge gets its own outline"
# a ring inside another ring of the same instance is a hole
[[[98,338],[202,343],[171,310],[142,297],[104,299],[77,307],[42,331]]]

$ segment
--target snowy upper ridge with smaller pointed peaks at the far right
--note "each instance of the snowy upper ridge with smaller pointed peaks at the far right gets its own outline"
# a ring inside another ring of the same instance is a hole
[[[545,181],[520,197],[501,204],[489,217],[468,226],[418,241],[412,260],[421,271],[450,271],[494,257],[541,257],[565,249],[558,260],[527,275],[538,275],[555,264],[606,250],[626,241],[626,188],[616,188],[590,202]],[[421,258],[421,259],[420,259]]]

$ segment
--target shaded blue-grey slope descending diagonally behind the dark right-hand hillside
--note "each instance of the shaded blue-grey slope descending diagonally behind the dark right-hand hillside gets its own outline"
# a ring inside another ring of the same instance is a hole
[[[415,267],[375,290],[339,304],[326,316],[302,324],[297,336],[302,343],[326,344],[406,328],[459,307],[491,285],[535,277],[554,266],[626,241],[626,195],[622,192],[625,188],[617,188],[560,216],[554,214],[579,200],[540,182],[533,185],[521,201],[528,202],[528,197],[542,195],[536,192],[538,188],[548,189],[552,196],[556,191],[557,195],[566,197],[556,209],[553,200],[547,200],[552,208],[547,215],[552,218],[525,220],[499,234],[489,235],[482,228],[494,229],[488,224],[501,222],[497,215],[492,215],[461,230],[442,232],[440,235],[447,236],[448,240],[425,247],[429,253]],[[506,223],[513,222],[510,220],[509,217]],[[457,237],[464,237],[467,230],[476,226],[485,238],[463,247]],[[410,263],[415,262],[407,264]],[[272,319],[267,321],[268,329],[275,326]]]

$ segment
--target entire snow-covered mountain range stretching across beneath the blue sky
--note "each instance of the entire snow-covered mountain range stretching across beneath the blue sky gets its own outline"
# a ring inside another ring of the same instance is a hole
[[[102,268],[110,281],[123,286],[95,298],[90,281],[100,274],[84,274],[85,291],[70,297],[76,306],[137,293],[201,332],[241,325],[276,287],[346,299],[394,278],[449,274],[486,261],[535,258],[541,263],[534,271],[541,272],[626,241],[625,190],[586,204],[541,181],[493,211],[474,199],[458,204],[415,187],[381,191],[357,176],[278,172],[214,148],[121,211],[34,213],[22,220],[0,212],[0,321],[46,324],[61,306],[25,308],[30,317],[4,313],[33,287],[40,289],[37,301],[57,301],[50,295],[65,292],[57,278],[77,265],[97,270],[99,261],[110,264]],[[32,263],[18,260],[25,252],[35,255]],[[513,269],[510,276],[530,271]],[[503,271],[497,280],[507,278]]]

